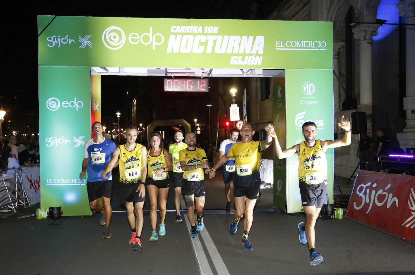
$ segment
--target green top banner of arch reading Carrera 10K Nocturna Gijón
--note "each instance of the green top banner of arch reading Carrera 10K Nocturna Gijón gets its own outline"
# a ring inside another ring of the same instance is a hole
[[[53,18],[38,16],[39,65],[332,69],[332,22]]]

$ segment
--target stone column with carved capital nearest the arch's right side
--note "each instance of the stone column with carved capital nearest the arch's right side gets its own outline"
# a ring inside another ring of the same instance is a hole
[[[372,132],[372,36],[378,35],[379,24],[359,24],[354,29],[354,39],[360,45],[360,104],[359,111],[366,112],[367,133]]]

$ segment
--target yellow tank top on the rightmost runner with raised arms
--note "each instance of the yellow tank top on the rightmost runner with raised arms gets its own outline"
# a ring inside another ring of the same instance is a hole
[[[327,184],[326,153],[321,147],[321,140],[315,140],[313,147],[307,147],[305,141],[300,143],[298,155],[298,181],[312,188],[323,188]]]

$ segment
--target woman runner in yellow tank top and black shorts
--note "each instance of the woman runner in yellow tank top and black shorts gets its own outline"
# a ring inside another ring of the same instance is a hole
[[[151,133],[147,153],[148,173],[146,178],[147,191],[150,199],[150,221],[151,237],[150,241],[159,239],[156,233],[157,225],[157,197],[160,205],[160,229],[159,234],[166,234],[164,219],[166,218],[166,203],[168,196],[168,171],[173,169],[170,155],[166,149],[163,149],[163,142],[158,133]]]

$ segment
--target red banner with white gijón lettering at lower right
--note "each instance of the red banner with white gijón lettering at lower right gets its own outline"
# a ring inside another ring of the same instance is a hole
[[[415,176],[359,170],[346,216],[415,240]]]

